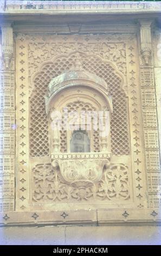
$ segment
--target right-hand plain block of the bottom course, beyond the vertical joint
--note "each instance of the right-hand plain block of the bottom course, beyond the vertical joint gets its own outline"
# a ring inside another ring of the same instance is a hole
[[[92,245],[160,245],[160,227],[75,227],[66,229],[66,243]]]

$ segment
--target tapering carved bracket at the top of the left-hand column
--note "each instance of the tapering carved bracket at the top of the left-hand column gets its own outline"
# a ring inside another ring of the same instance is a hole
[[[4,60],[4,68],[9,69],[13,54],[13,32],[11,23],[1,25],[2,31],[2,54]]]

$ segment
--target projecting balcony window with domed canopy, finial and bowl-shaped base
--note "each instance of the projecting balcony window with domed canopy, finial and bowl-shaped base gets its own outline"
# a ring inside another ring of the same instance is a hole
[[[91,165],[90,172],[97,172],[97,175],[95,175],[98,178],[95,177],[95,181],[99,181],[102,176],[102,168],[111,158],[110,119],[112,99],[108,95],[106,82],[95,74],[83,70],[79,55],[71,70],[53,78],[49,83],[46,96],[46,112],[49,120],[51,162],[54,168],[60,170],[66,182],[69,182],[69,180],[70,182],[78,182],[80,180],[76,176],[70,176],[69,179],[68,175],[71,169],[70,159],[73,159],[73,157],[81,158],[87,161],[87,166]],[[59,126],[60,129],[55,129],[52,126],[55,119],[58,123],[62,121],[60,113],[66,113],[67,115],[63,117],[63,123]],[[70,115],[76,113],[82,115],[81,117],[76,116],[73,123]],[[88,117],[85,116],[86,113]],[[107,113],[107,116],[104,116],[105,113]],[[68,115],[69,125],[66,129]],[[88,120],[89,117],[91,122]],[[106,128],[105,131],[102,130],[100,124],[98,125],[99,121],[102,127]],[[73,129],[73,125],[76,129]],[[106,154],[106,160],[101,158],[99,160],[104,162],[102,168],[95,169],[95,159],[88,160],[88,157],[91,157],[88,155],[90,153],[94,153],[94,158],[100,157],[100,153]],[[79,160],[75,161],[79,162]],[[63,171],[64,168],[66,169],[65,172]],[[78,163],[75,168],[77,170],[73,170],[73,173],[82,172],[81,163]],[[92,178],[82,174],[81,182],[82,179],[89,181]]]

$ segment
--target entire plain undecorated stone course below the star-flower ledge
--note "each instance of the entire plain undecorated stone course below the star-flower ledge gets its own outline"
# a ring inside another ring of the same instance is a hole
[[[161,227],[1,227],[1,245],[161,245]]]

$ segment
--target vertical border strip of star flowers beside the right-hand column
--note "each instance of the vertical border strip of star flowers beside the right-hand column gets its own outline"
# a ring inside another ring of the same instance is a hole
[[[129,95],[129,116],[131,124],[131,151],[132,151],[132,165],[133,165],[133,193],[134,203],[137,208],[146,208],[145,200],[145,183],[144,175],[145,159],[143,153],[143,141],[141,139],[141,114],[140,114],[140,88],[138,86],[138,76],[136,69],[136,54],[137,44],[133,39],[127,44],[127,80],[128,80],[128,95]]]

